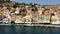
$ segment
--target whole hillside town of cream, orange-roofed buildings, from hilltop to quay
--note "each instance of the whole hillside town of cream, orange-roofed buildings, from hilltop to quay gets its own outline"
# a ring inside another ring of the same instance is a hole
[[[25,4],[3,1],[0,5],[0,25],[60,27],[59,7],[57,5],[43,6],[35,3]],[[34,24],[31,24],[32,22]]]

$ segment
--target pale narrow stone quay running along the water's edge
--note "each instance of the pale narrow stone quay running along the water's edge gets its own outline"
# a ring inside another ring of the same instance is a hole
[[[0,26],[24,26],[24,27],[59,27],[60,28],[60,25],[53,25],[53,24],[39,24],[39,25],[28,25],[28,24],[0,24]]]

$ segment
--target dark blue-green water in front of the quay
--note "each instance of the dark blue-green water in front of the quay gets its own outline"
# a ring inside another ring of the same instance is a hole
[[[0,26],[0,34],[60,34],[60,28]]]

